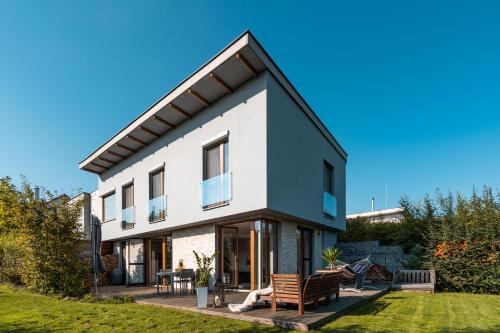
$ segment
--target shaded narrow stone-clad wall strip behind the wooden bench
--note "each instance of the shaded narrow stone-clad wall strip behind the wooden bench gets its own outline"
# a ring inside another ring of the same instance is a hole
[[[278,273],[297,274],[297,224],[280,223]]]

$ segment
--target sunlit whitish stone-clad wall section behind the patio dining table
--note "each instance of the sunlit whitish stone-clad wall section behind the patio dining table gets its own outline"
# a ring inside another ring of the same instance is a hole
[[[185,268],[196,269],[193,250],[209,256],[215,252],[215,225],[204,225],[172,232],[172,265],[175,269],[182,259]],[[214,271],[216,263],[214,262]]]

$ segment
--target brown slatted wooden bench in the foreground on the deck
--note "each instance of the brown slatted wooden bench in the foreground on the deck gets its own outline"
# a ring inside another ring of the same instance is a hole
[[[297,304],[301,315],[305,304],[318,306],[320,299],[328,302],[330,295],[335,295],[338,300],[341,280],[341,271],[314,274],[305,281],[298,274],[273,274],[272,310],[278,310],[278,303]]]

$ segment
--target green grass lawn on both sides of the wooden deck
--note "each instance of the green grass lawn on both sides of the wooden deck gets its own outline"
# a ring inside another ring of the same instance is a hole
[[[283,332],[133,303],[58,300],[0,285],[0,331]],[[500,296],[390,293],[320,332],[500,332]]]

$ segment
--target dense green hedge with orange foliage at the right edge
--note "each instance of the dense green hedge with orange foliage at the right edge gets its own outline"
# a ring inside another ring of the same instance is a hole
[[[402,201],[405,218],[418,226],[427,268],[446,291],[500,294],[500,196],[485,188],[470,199],[437,193],[423,204]]]

